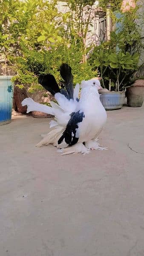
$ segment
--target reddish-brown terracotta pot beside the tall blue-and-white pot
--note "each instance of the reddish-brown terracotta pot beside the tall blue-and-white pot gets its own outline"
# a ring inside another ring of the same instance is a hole
[[[27,106],[22,106],[21,102],[23,99],[27,97],[26,88],[20,89],[17,86],[14,86],[14,101],[15,105],[17,106],[17,112],[19,113],[26,113]]]

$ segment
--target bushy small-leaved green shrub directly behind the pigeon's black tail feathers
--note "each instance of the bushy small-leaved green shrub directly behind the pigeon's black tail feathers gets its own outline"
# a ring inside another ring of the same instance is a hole
[[[23,57],[11,58],[13,70],[16,76],[14,80],[19,86],[28,86],[29,91],[42,90],[43,87],[37,84],[39,74],[51,73],[59,82],[61,79],[58,69],[62,63],[68,63],[72,67],[74,85],[82,80],[88,80],[97,76],[93,71],[94,65],[82,63],[82,51],[80,45],[59,45],[49,48],[47,51],[36,51],[23,48]]]

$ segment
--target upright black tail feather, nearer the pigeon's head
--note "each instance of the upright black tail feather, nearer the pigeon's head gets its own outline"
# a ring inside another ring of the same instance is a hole
[[[61,81],[66,88],[66,91],[69,95],[69,99],[73,99],[74,87],[73,87],[73,76],[72,76],[72,68],[68,65],[63,63],[60,66],[60,76],[63,78],[64,81]]]

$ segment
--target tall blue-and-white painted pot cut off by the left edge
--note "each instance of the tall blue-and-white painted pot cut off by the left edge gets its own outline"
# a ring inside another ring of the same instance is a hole
[[[12,76],[0,76],[0,125],[11,122],[14,85]]]

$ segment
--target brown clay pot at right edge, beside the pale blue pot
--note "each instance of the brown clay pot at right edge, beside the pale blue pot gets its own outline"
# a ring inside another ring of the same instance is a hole
[[[127,88],[127,104],[129,107],[141,107],[144,102],[144,80],[138,79]]]

